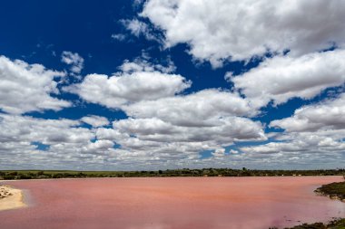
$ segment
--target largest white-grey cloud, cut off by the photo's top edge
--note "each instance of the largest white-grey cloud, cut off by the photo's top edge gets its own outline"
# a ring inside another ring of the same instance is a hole
[[[337,0],[149,0],[140,16],[163,30],[165,47],[188,43],[194,58],[219,67],[226,59],[248,60],[265,52],[289,49],[298,56],[343,46],[344,7]]]

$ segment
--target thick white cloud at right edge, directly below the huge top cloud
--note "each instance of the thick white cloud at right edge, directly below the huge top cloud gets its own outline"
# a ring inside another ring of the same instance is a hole
[[[252,101],[253,106],[286,102],[293,97],[311,99],[321,91],[345,82],[345,50],[313,52],[298,58],[290,55],[266,59],[250,72],[232,77],[235,88]]]

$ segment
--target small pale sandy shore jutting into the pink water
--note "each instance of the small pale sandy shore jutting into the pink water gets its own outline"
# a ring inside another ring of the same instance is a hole
[[[23,192],[11,186],[0,186],[0,211],[26,206]]]

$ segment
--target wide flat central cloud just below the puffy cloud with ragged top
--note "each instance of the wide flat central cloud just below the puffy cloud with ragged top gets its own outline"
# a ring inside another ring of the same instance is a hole
[[[156,117],[186,127],[207,127],[223,117],[256,114],[248,100],[242,99],[237,93],[215,89],[160,100],[143,100],[123,106],[123,110],[131,117]]]

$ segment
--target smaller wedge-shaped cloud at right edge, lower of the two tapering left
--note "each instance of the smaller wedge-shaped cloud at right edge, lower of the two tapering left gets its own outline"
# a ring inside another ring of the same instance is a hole
[[[270,126],[286,129],[289,132],[345,129],[345,93],[337,99],[301,107],[295,110],[291,118],[273,120]]]

